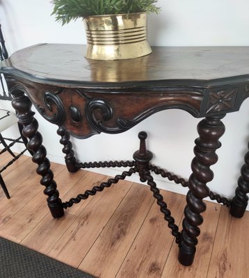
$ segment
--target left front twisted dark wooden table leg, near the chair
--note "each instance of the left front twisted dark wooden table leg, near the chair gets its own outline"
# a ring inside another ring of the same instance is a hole
[[[38,122],[31,111],[31,101],[21,90],[13,92],[13,108],[17,111],[19,123],[24,126],[23,135],[29,139],[28,149],[33,153],[32,161],[38,164],[36,172],[42,176],[40,183],[45,186],[44,193],[48,196],[47,204],[54,218],[60,218],[64,214],[63,204],[59,198],[54,174],[50,169],[49,159],[46,157],[47,151],[42,145],[42,136],[38,132]]]

